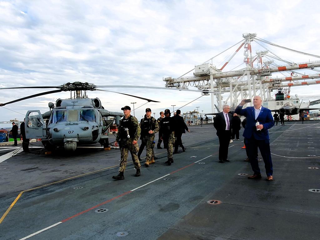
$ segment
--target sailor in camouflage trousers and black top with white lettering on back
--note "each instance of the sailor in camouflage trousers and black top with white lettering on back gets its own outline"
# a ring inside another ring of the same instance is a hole
[[[164,118],[160,122],[159,134],[163,140],[164,148],[167,148],[168,161],[164,162],[165,164],[171,165],[173,163],[172,152],[173,144],[175,141],[174,130],[176,127],[175,120],[170,117],[170,110],[164,110]]]

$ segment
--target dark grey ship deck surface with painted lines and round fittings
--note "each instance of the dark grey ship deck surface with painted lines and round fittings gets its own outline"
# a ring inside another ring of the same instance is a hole
[[[262,180],[238,175],[252,174],[242,136],[230,143],[231,162],[218,163],[212,124],[183,134],[187,151],[174,155],[171,166],[164,164],[166,150],[155,148],[159,159],[134,177],[129,156],[120,181],[112,179],[120,160],[116,149],[19,153],[0,163],[0,217],[23,190],[100,171],[23,192],[0,224],[0,239],[21,239],[60,221],[28,239],[320,239],[320,193],[309,191],[320,189],[320,169],[308,169],[320,168],[320,121],[286,122],[269,132],[272,182],[264,180],[263,161]],[[95,212],[102,208],[108,211]]]

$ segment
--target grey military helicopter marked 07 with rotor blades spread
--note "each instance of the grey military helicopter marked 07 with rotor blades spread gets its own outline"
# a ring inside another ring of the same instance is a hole
[[[94,144],[98,142],[101,144],[101,146],[103,145],[104,148],[107,148],[109,145],[109,140],[108,135],[105,135],[105,132],[114,121],[116,125],[119,125],[119,121],[124,114],[120,112],[110,112],[104,109],[99,98],[90,99],[87,97],[86,93],[87,91],[114,92],[110,90],[98,89],[108,87],[167,89],[162,87],[147,86],[96,86],[94,84],[82,82],[66,83],[60,86],[6,87],[0,88],[0,90],[31,88],[58,88],[58,90],[37,93],[17,100],[12,100],[10,102],[0,103],[0,106],[5,106],[10,103],[42,96],[45,94],[70,91],[70,99],[58,99],[56,100],[55,104],[49,102],[49,111],[43,114],[41,114],[39,110],[29,110],[27,112],[24,121],[26,126],[26,137],[28,139],[41,139],[44,148],[48,151],[52,151],[57,147],[64,147],[65,150],[75,151],[78,145]],[[172,90],[200,92],[186,89]],[[74,92],[73,97],[72,91]],[[147,100],[148,102],[159,102],[126,93],[116,93]],[[114,117],[114,119],[104,119],[105,117],[109,116]]]

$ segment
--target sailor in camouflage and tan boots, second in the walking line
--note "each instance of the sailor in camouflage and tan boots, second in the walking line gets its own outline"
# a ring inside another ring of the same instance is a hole
[[[155,147],[155,133],[159,130],[156,118],[151,116],[151,109],[146,108],[146,115],[140,121],[141,141],[146,145],[146,162],[145,166],[155,163],[153,148]],[[142,145],[142,144],[141,144]]]

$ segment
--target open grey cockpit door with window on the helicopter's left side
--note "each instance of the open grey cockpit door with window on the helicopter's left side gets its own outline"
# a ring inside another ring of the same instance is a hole
[[[46,138],[46,125],[39,110],[27,112],[25,129],[27,139]]]

